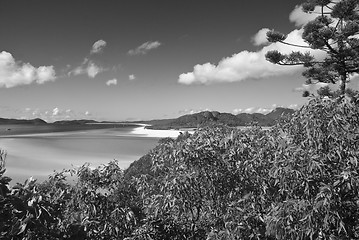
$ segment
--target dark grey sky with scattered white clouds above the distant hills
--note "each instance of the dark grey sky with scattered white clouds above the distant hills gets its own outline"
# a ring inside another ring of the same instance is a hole
[[[301,67],[267,62],[275,29],[302,43],[300,0],[2,0],[0,117],[109,121],[297,108]]]

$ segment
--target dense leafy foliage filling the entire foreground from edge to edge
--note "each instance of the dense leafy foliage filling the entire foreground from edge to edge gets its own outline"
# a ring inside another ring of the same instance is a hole
[[[358,239],[358,149],[359,104],[325,97],[269,130],[164,139],[139,172],[85,165],[10,188],[2,158],[0,238]]]

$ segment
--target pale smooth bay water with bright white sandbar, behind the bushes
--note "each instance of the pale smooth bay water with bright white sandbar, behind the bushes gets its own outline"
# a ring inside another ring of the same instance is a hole
[[[7,152],[6,176],[12,183],[29,177],[42,181],[54,170],[90,163],[97,167],[113,159],[127,168],[148,153],[162,137],[176,137],[178,131],[97,129],[75,132],[41,133],[0,138],[0,149]]]

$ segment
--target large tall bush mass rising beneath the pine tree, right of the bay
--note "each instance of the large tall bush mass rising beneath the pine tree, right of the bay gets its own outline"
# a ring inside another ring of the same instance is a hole
[[[146,229],[178,239],[359,237],[358,105],[313,99],[270,130],[200,129],[153,153]],[[161,226],[161,227],[159,227]]]

